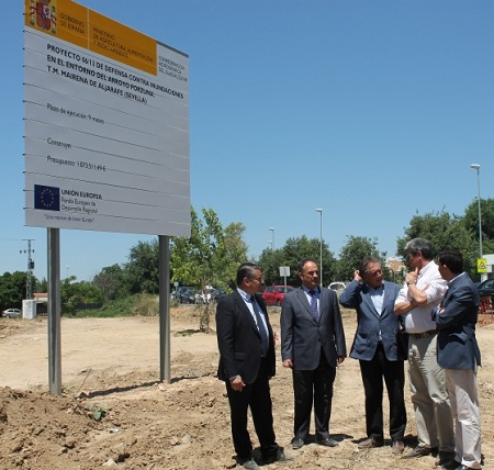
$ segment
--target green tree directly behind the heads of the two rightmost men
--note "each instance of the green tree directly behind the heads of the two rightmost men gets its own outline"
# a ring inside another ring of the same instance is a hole
[[[448,212],[414,215],[409,226],[405,228],[405,235],[397,238],[396,255],[404,256],[406,243],[418,237],[431,243],[435,255],[446,248],[458,249],[463,255],[465,271],[472,279],[478,278],[475,267],[479,249],[461,217]]]

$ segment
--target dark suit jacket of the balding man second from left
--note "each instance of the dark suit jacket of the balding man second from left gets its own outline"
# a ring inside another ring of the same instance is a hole
[[[337,356],[347,355],[336,293],[321,289],[317,322],[304,290],[295,289],[284,295],[281,309],[281,357],[291,359],[295,370],[314,370],[322,350],[332,367],[336,367]]]

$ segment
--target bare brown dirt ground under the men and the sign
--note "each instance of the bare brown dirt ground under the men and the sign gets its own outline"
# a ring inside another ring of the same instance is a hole
[[[279,331],[279,309],[270,318]],[[355,314],[343,311],[348,348]],[[0,320],[1,469],[232,469],[229,411],[216,374],[215,334],[198,332],[191,306],[171,312],[171,383],[159,381],[156,317],[61,320],[63,395],[48,393],[47,320]],[[214,329],[214,323],[212,324]],[[484,469],[494,469],[494,322],[478,327]],[[278,346],[279,350],[279,346]],[[338,368],[330,433],[336,448],[292,450],[291,372],[272,379],[277,440],[294,456],[268,469],[433,469],[434,458],[401,459],[389,446],[359,450],[364,438],[358,361]],[[405,445],[416,436],[408,384]],[[386,400],[386,399],[385,399]],[[388,407],[385,405],[385,407]],[[257,438],[251,436],[255,445]]]

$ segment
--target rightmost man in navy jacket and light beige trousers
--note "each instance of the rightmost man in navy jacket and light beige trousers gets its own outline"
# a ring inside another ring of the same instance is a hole
[[[463,272],[463,257],[457,250],[438,255],[439,272],[448,281],[441,304],[433,310],[439,331],[437,361],[445,369],[446,387],[454,418],[456,457],[442,469],[481,468],[481,421],[476,368],[481,355],[475,338],[479,293]]]

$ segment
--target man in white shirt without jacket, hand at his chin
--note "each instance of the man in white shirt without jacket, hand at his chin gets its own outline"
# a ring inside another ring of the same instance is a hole
[[[454,458],[454,430],[445,371],[437,362],[436,322],[430,312],[442,300],[447,283],[433,260],[429,240],[414,238],[406,244],[405,251],[411,271],[398,292],[394,312],[404,315],[409,334],[408,368],[418,446],[404,458],[439,450],[437,463],[445,466]]]

